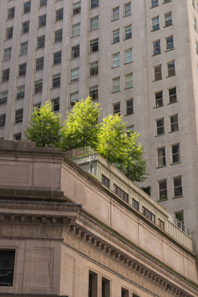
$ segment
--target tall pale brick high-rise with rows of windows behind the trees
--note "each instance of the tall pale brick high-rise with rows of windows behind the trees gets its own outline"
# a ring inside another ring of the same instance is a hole
[[[140,185],[197,237],[197,19],[197,0],[1,0],[0,138],[90,95],[140,133]]]

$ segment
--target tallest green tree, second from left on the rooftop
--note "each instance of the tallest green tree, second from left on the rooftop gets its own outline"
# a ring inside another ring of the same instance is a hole
[[[63,150],[91,146],[96,148],[100,115],[99,104],[90,97],[76,102],[62,129]]]

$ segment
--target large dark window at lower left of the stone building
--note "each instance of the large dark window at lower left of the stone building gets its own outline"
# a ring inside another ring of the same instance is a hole
[[[14,264],[15,251],[0,250],[0,286],[13,286]]]

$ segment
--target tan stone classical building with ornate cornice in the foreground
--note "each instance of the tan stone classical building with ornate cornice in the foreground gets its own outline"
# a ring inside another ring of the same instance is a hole
[[[135,184],[119,197],[98,160],[99,180],[59,149],[0,140],[0,297],[198,296],[190,233]]]

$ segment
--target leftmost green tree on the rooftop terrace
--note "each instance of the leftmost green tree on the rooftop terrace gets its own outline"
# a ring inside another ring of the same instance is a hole
[[[62,127],[61,115],[52,112],[50,100],[31,115],[29,126],[24,131],[25,140],[36,142],[37,147],[56,148],[59,146]]]

